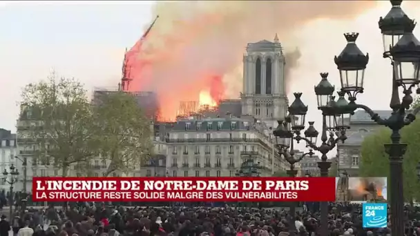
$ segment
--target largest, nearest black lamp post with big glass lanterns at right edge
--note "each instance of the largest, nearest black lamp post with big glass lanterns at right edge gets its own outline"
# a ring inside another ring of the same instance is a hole
[[[392,9],[385,17],[379,19],[379,28],[383,35],[383,57],[392,61],[392,94],[390,108],[392,114],[388,119],[381,119],[367,106],[356,104],[356,95],[363,92],[364,70],[369,61],[356,46],[359,34],[346,34],[347,46],[341,55],[334,57],[340,72],[341,91],[348,96],[350,103],[345,112],[354,112],[357,108],[365,110],[377,124],[386,126],[392,131],[391,144],[385,144],[385,152],[390,156],[391,179],[391,231],[392,235],[404,235],[404,199],[403,199],[403,155],[407,144],[401,144],[400,130],[416,118],[419,108],[408,112],[413,98],[412,88],[419,84],[420,42],[412,34],[416,23],[401,10],[402,0],[391,0]],[[399,98],[399,87],[403,98]],[[420,88],[417,87],[417,94]]]

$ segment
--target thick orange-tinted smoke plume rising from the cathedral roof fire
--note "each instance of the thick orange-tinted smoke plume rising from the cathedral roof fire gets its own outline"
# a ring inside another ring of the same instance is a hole
[[[198,100],[202,90],[215,96],[215,100],[237,98],[242,90],[242,54],[247,43],[273,41],[276,33],[287,53],[286,75],[290,84],[290,72],[298,70],[298,59],[303,56],[293,43],[296,30],[314,19],[350,19],[375,4],[158,1],[154,14],[160,18],[142,46],[142,72],[133,78],[130,90],[157,92],[162,117],[166,119],[173,119],[180,101]]]

